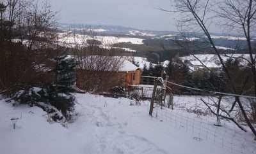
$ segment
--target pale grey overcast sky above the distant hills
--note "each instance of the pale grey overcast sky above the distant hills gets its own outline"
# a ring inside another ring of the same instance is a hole
[[[176,31],[170,0],[51,0],[63,23],[123,25],[138,29]]]

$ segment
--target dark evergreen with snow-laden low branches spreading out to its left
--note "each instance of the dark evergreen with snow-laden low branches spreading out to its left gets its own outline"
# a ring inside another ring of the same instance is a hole
[[[74,111],[74,85],[76,83],[76,62],[70,56],[61,56],[56,59],[56,81],[43,88],[33,87],[20,90],[12,97],[13,100],[21,104],[39,106],[51,114],[52,120],[64,122],[70,120]]]

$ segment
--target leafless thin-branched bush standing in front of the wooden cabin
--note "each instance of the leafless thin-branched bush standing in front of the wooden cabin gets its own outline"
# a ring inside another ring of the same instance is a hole
[[[113,43],[90,29],[76,28],[65,36],[63,46],[70,47],[70,53],[79,62],[77,86],[89,92],[103,92],[115,86],[122,86],[118,71],[124,64],[124,57],[115,56]]]

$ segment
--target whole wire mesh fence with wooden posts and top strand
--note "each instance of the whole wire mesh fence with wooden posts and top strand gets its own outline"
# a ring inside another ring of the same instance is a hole
[[[196,141],[211,142],[216,144],[216,148],[226,148],[232,153],[256,154],[256,141],[241,113],[243,109],[246,117],[253,120],[254,115],[256,120],[256,106],[253,108],[256,97],[186,87],[163,78],[148,78],[148,76],[143,78],[148,81],[157,81],[154,87],[161,85],[159,89],[163,91],[162,99],[157,97],[160,95],[157,94],[157,90],[152,92],[151,104],[154,104],[154,109],[150,105],[150,115],[176,129],[183,130],[182,132],[186,132]],[[183,98],[174,95],[173,97],[173,86],[203,95],[190,95]],[[168,97],[166,97],[166,90],[170,94]]]

